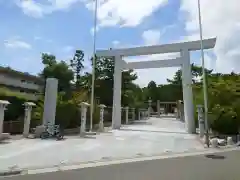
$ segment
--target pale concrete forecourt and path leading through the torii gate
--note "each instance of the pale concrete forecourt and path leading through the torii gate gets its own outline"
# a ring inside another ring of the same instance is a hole
[[[134,158],[178,152],[202,151],[195,135],[186,133],[182,122],[150,118],[96,136],[96,139],[67,137],[64,141],[21,139],[0,144],[0,170],[42,168],[91,161]]]

